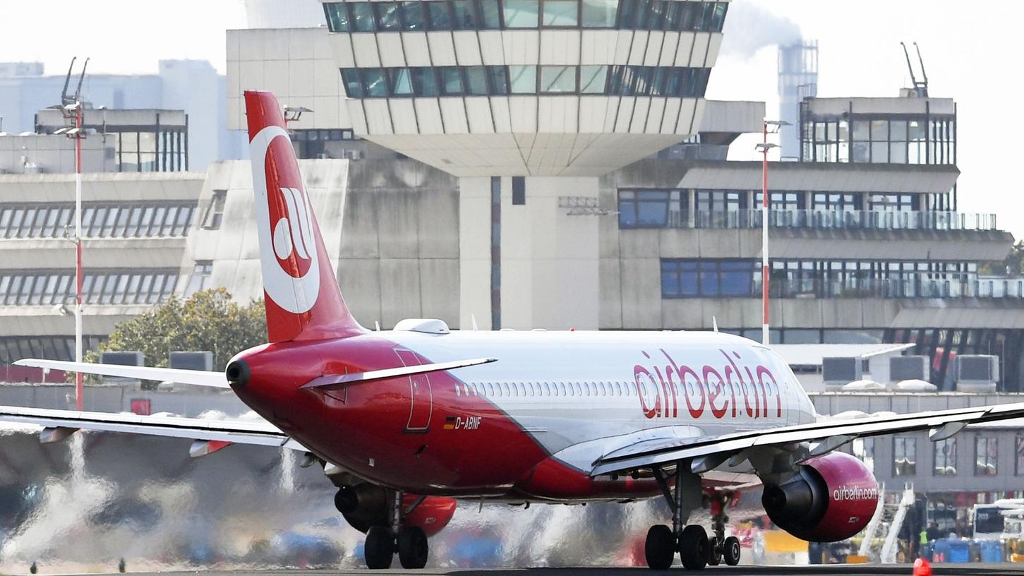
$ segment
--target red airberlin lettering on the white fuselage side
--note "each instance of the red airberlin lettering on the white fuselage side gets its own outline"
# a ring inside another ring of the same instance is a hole
[[[752,368],[738,353],[724,349],[719,351],[722,358],[721,363],[716,362],[718,366],[706,364],[697,368],[676,364],[664,349],[658,353],[653,358],[642,353],[651,362],[650,368],[640,364],[633,367],[644,416],[678,418],[682,403],[683,414],[688,412],[692,418],[706,412],[719,419],[782,417],[778,381],[768,368],[760,364]],[[769,399],[774,406],[769,407]]]

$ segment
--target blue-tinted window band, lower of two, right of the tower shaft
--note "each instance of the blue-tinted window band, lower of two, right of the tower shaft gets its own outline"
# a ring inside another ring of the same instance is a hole
[[[751,297],[755,265],[752,260],[662,260],[662,297]]]

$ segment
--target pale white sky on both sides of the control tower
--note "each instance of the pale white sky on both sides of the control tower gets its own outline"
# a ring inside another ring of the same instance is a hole
[[[49,74],[76,54],[92,57],[92,72],[156,73],[162,58],[223,72],[224,31],[246,25],[242,0],[5,0],[3,12],[0,59],[42,60]],[[918,42],[931,95],[957,102],[961,211],[997,213],[999,228],[1024,238],[1024,143],[1010,129],[1024,111],[1021,22],[1017,0],[733,0],[708,97],[763,100],[777,117],[775,45],[795,35],[818,41],[819,96],[895,96],[910,84],[899,42]],[[737,141],[730,157],[754,158],[755,141]]]

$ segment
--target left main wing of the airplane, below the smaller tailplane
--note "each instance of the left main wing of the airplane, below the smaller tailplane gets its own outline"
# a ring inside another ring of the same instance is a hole
[[[62,440],[79,429],[88,429],[189,439],[194,441],[189,449],[193,456],[210,454],[229,444],[306,450],[276,426],[262,419],[214,420],[0,406],[0,421],[43,426],[40,440],[44,443]]]

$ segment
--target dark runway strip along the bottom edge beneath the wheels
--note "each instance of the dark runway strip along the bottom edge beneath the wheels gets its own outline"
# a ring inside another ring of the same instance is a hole
[[[932,568],[936,575],[952,576],[1024,576],[1024,564],[939,564]],[[630,573],[635,576],[651,574],[646,568],[523,568],[495,570],[266,570],[228,572],[131,572],[133,576],[616,576]],[[701,576],[910,576],[908,564],[899,565],[840,565],[840,566],[737,566],[716,567],[691,573],[681,568],[654,574]]]

